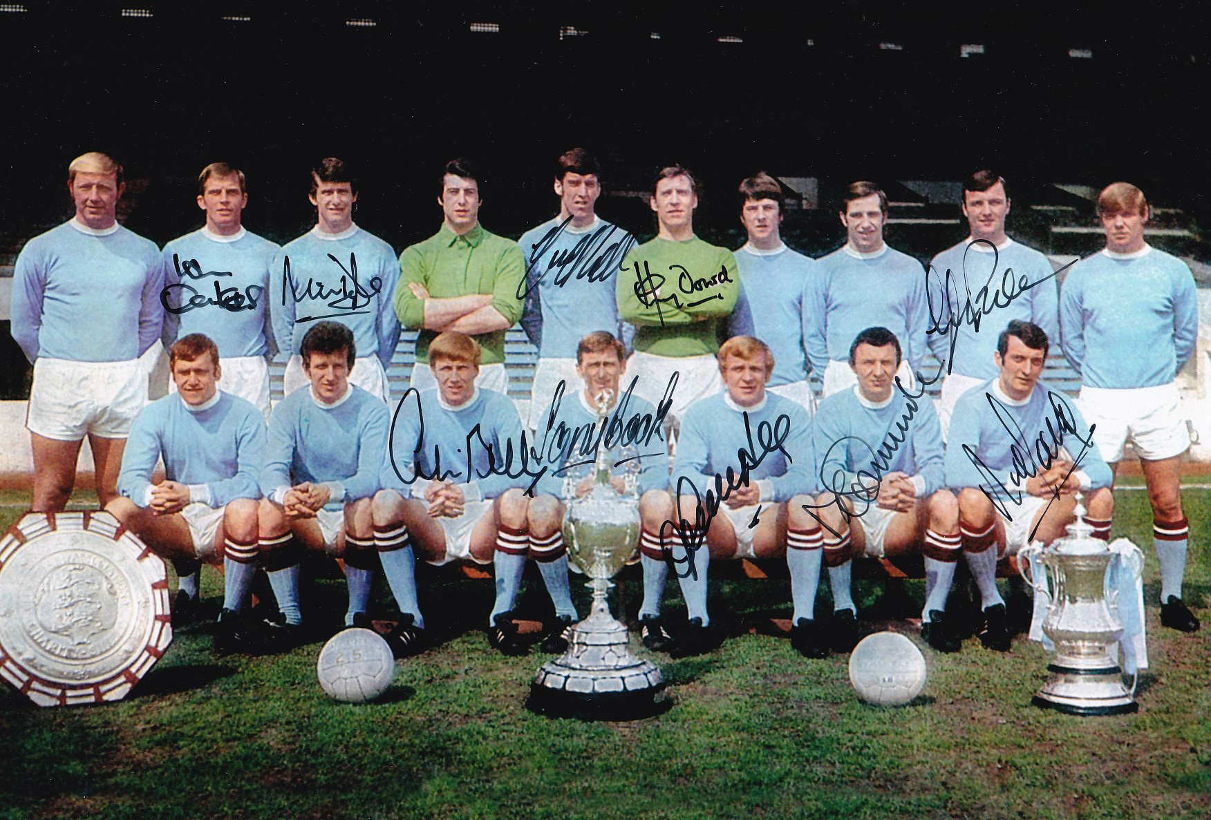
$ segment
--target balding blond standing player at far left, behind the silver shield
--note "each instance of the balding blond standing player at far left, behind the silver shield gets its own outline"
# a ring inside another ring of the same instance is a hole
[[[12,337],[34,365],[35,512],[67,507],[88,437],[97,499],[117,496],[131,422],[148,399],[139,360],[160,339],[163,271],[153,242],[117,224],[122,167],[97,151],[68,166],[75,216],[30,239],[12,282]]]

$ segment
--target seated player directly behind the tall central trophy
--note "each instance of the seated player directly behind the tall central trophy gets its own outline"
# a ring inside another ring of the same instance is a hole
[[[649,649],[667,651],[672,648],[672,637],[660,624],[660,597],[668,566],[660,547],[660,525],[671,519],[673,512],[667,491],[668,450],[664,440],[664,420],[652,403],[630,391],[625,398],[619,393],[626,369],[625,356],[622,342],[613,335],[604,330],[590,333],[576,346],[576,374],[584,382],[582,389],[578,389],[580,385],[569,385],[574,394],[557,393],[555,404],[533,416],[549,470],[539,480],[529,506],[530,556],[539,561],[544,578],[551,574],[556,583],[567,583],[566,502],[592,490],[592,463],[604,446],[614,490],[629,491],[629,473],[636,479],[643,564],[641,637]],[[602,400],[607,411],[604,418],[598,415]],[[555,597],[551,582],[547,584]],[[545,651],[562,652],[567,647],[567,641],[558,636],[575,618],[575,610],[566,593],[556,599],[556,624],[546,630]]]

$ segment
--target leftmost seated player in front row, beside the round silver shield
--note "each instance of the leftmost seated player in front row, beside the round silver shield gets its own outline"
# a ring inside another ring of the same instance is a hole
[[[173,562],[180,589],[173,602],[179,626],[197,613],[199,561],[225,567],[220,648],[236,648],[234,629],[257,568],[257,475],[265,450],[265,422],[251,403],[218,389],[218,346],[200,333],[168,348],[177,386],[136,416],[117,498],[105,509],[157,555]],[[165,479],[151,484],[156,461]],[[223,640],[228,643],[224,646]]]

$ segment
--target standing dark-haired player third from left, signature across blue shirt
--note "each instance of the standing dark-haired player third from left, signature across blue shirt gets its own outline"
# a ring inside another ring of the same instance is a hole
[[[277,347],[291,354],[282,375],[289,395],[308,383],[303,336],[321,319],[335,319],[354,333],[362,356],[349,380],[390,400],[386,368],[400,341],[391,294],[400,278],[395,250],[354,224],[357,177],[348,164],[326,157],[311,169],[315,227],[287,243],[270,271],[269,313]]]

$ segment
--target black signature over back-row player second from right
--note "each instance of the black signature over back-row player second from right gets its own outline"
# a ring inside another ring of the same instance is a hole
[[[993,262],[992,271],[988,272],[988,279],[976,290],[975,300],[977,305],[974,305],[971,301],[971,283],[968,282],[968,254],[977,244],[986,244],[992,249]],[[1025,273],[1016,276],[1012,267],[1006,267],[1000,275],[1000,284],[997,288],[992,288],[992,281],[997,275],[997,264],[999,260],[1000,254],[997,250],[997,246],[988,239],[975,239],[968,244],[966,250],[963,252],[963,290],[966,293],[966,298],[962,299],[962,304],[957,277],[951,268],[946,268],[946,275],[941,282],[937,281],[937,277],[941,276],[937,268],[932,265],[925,268],[925,300],[929,304],[930,322],[925,333],[947,334],[949,336],[951,356],[949,365],[946,369],[947,373],[951,373],[951,368],[954,366],[954,346],[959,341],[959,328],[964,323],[970,324],[972,330],[980,333],[981,322],[986,316],[992,314],[994,310],[1008,307],[1027,290],[1054,279],[1061,271],[1068,270],[1068,267],[1077,264],[1077,260],[1073,260],[1050,276],[1045,276],[1035,282],[1031,282],[1029,277]],[[930,279],[931,276],[934,277],[932,279]],[[935,290],[941,293],[941,304],[936,306],[936,311],[934,305]],[[955,311],[955,305],[959,305],[958,311]]]

